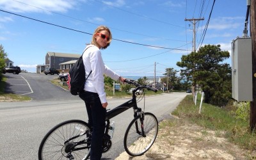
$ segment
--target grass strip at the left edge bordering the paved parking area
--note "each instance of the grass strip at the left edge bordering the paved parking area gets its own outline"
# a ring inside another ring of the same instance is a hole
[[[7,78],[3,75],[2,78],[0,78],[0,102],[1,101],[28,101],[31,100],[30,97],[24,96],[24,95],[16,95],[13,93],[4,93],[4,86],[6,86],[6,80]]]

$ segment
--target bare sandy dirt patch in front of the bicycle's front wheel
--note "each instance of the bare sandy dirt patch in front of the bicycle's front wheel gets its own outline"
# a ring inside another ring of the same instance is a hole
[[[164,120],[161,123],[166,123]],[[228,142],[225,132],[211,131],[195,124],[163,125],[159,127],[154,145],[143,156],[130,157],[126,152],[116,160],[124,159],[251,159],[252,154]],[[255,154],[256,156],[256,154]]]

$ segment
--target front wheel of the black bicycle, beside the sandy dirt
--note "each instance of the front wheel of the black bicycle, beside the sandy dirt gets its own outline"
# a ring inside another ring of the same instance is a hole
[[[149,150],[156,140],[158,122],[155,115],[145,113],[141,123],[140,116],[136,116],[129,124],[124,136],[124,148],[130,156],[141,156]],[[145,132],[143,136],[141,129]]]

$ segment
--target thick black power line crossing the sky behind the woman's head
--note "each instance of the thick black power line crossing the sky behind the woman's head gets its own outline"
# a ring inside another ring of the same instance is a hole
[[[84,34],[87,34],[87,35],[93,35],[92,33],[87,33],[87,32],[79,31],[79,30],[72,29],[72,28],[66,28],[66,27],[63,27],[63,26],[60,26],[60,25],[57,25],[57,24],[52,24],[52,23],[45,22],[45,21],[42,21],[42,20],[38,20],[38,19],[33,19],[33,18],[30,18],[30,17],[26,17],[26,16],[24,16],[24,15],[19,15],[19,14],[12,13],[12,12],[7,12],[7,11],[4,11],[4,10],[0,10],[0,11],[1,11],[1,12],[10,13],[10,14],[12,14],[12,15],[17,15],[17,16],[19,16],[19,17],[24,17],[24,18],[26,18],[26,19],[35,20],[35,21],[37,21],[37,22],[42,22],[42,23],[45,23],[45,24],[49,24],[49,25],[52,25],[52,26],[56,26],[56,27],[59,27],[59,28],[69,29],[69,30],[71,30],[71,31],[77,31],[77,32],[79,32],[79,33],[84,33]],[[156,46],[156,45],[139,44],[139,43],[129,42],[129,41],[125,41],[125,40],[119,40],[119,39],[115,39],[115,38],[113,38],[113,40],[117,40],[117,41],[120,41],[120,42],[129,43],[129,44],[144,45],[144,46],[147,46],[147,47],[155,47],[155,48],[161,48],[161,49],[171,49],[171,50],[187,51],[186,49],[172,49],[172,48],[169,48],[169,47],[159,47],[159,46]],[[179,48],[179,47],[177,47],[177,48]]]

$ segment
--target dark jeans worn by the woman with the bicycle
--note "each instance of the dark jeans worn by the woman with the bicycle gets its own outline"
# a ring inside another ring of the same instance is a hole
[[[106,108],[102,107],[99,95],[93,92],[81,92],[79,97],[84,100],[88,123],[92,126],[92,144],[90,159],[100,159],[102,155],[102,139],[105,131]]]

